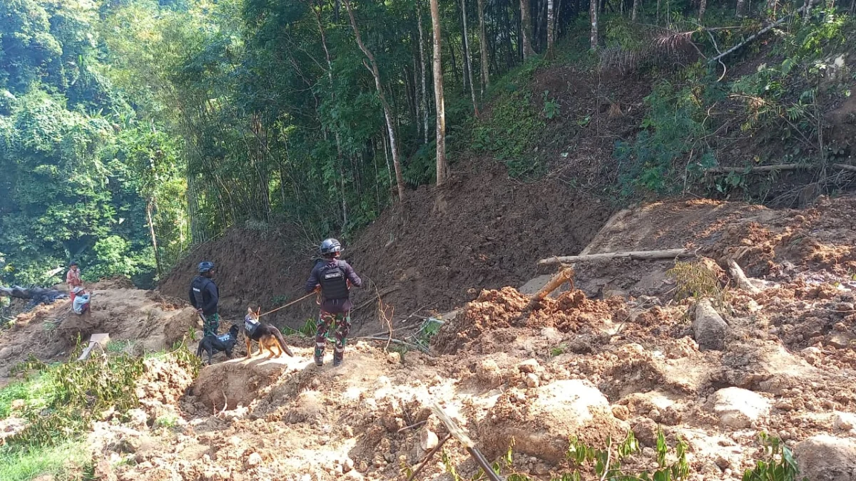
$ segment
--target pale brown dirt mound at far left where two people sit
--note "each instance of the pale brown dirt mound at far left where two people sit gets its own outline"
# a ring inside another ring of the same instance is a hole
[[[181,341],[199,323],[183,302],[136,288],[93,290],[90,306],[77,315],[69,300],[60,300],[15,318],[9,330],[0,331],[0,377],[31,353],[42,360],[64,359],[78,337],[86,343],[92,334],[107,333],[132,353],[152,352]]]

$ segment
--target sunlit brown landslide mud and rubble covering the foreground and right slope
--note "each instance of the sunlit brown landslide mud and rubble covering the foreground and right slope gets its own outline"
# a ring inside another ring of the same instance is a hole
[[[675,300],[667,272],[674,260],[577,263],[577,288],[534,304],[514,287],[481,290],[443,324],[431,353],[354,339],[344,365],[333,368],[328,349],[318,368],[312,340],[289,336],[294,358],[220,354],[195,380],[175,366],[150,365],[131,421],[93,426],[98,472],[118,480],[396,478],[446,435],[431,414],[439,401],[488,456],[514,440],[514,470],[533,478],[569,469],[569,435],[603,445],[628,429],[642,451],[627,462],[650,467],[662,429],[670,442],[688,443],[693,479],[740,479],[762,455],[758,434],[768,432],[795,449],[811,481],[830,472],[851,481],[853,207],[854,198],[801,211],[675,201],[621,212],[591,236],[588,253],[698,252],[689,261],[716,280],[710,295],[726,326],[717,347],[699,330],[695,300]],[[722,269],[727,258],[759,292],[734,288]],[[178,320],[181,302],[163,294],[101,295],[104,306],[93,314],[110,316],[98,329],[140,339],[152,332],[158,342],[177,331],[163,329],[170,322],[193,329],[192,316]],[[173,315],[151,321],[160,327],[144,322],[154,314],[107,324],[122,318],[120,299],[132,312]],[[36,336],[50,320],[19,318],[21,327],[0,338],[3,347],[10,334]],[[459,472],[475,472],[460,446],[445,449]],[[439,457],[421,476],[449,478]]]

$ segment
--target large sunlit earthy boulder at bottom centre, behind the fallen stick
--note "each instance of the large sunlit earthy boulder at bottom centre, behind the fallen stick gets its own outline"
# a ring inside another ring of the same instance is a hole
[[[508,389],[479,426],[479,439],[491,456],[507,451],[514,439],[514,451],[556,463],[565,458],[568,438],[599,444],[607,436],[620,439],[628,427],[593,384],[571,379],[525,392]]]

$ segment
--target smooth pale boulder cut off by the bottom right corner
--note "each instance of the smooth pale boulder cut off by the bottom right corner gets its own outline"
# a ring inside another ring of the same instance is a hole
[[[856,481],[856,442],[825,434],[794,448],[800,473],[809,481]]]

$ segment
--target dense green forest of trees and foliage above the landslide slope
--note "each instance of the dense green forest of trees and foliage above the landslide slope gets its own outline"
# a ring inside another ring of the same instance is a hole
[[[673,75],[646,99],[639,134],[615,146],[616,159],[633,159],[621,173],[627,186],[669,193],[670,176],[686,187],[675,172],[716,164],[708,141],[716,125],[704,112],[728,93],[754,109],[745,130],[772,117],[794,135],[820,134],[806,79],[834,62],[824,55],[847,42],[852,9],[744,0],[5,0],[0,281],[57,281],[57,268],[74,259],[89,279],[151,284],[188,246],[236,225],[288,223],[307,241],[347,237],[407,189],[442,183],[446,144],[452,163],[482,150],[538,175],[527,139],[562,106],[508,79],[562,63]],[[714,86],[716,52],[780,17],[786,62]],[[690,46],[705,58],[687,62],[681,52]],[[681,56],[681,70],[663,56]],[[491,103],[492,116],[479,118]],[[804,152],[821,155],[822,141],[808,144]],[[720,188],[728,182],[740,179]]]

